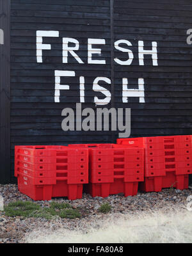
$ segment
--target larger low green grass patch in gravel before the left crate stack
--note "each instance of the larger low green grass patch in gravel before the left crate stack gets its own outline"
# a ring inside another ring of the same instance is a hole
[[[76,209],[72,209],[72,205],[67,203],[51,202],[49,207],[40,207],[40,205],[33,202],[17,201],[8,204],[4,208],[4,212],[7,216],[23,216],[26,218],[45,218],[51,220],[54,216],[60,218],[81,218],[81,214]]]

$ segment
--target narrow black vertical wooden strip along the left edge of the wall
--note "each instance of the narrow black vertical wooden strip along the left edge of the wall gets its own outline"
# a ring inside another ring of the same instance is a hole
[[[0,1],[0,183],[10,181],[10,1]]]

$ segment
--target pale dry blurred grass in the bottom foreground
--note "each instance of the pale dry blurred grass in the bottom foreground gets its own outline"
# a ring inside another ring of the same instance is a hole
[[[102,220],[79,220],[76,230],[40,227],[24,243],[192,243],[192,212],[166,207],[134,214],[108,214]]]

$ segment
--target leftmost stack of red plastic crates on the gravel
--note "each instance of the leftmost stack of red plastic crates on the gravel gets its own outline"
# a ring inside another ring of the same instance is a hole
[[[88,149],[64,146],[15,146],[19,191],[33,200],[82,197],[88,183]]]

